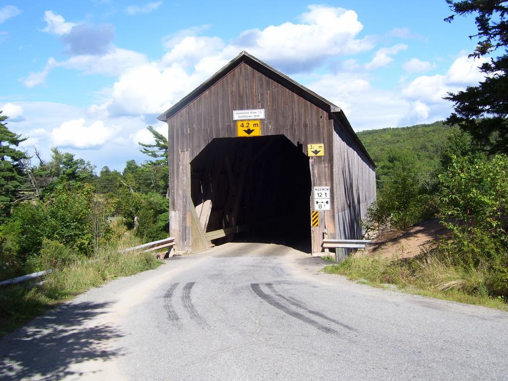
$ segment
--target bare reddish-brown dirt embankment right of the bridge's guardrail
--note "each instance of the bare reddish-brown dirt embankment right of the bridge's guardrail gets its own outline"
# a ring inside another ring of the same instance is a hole
[[[428,220],[406,230],[383,232],[365,247],[365,251],[359,250],[359,254],[386,258],[415,257],[449,232],[439,221]]]

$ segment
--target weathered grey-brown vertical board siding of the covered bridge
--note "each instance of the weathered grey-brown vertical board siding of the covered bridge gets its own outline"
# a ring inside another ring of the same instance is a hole
[[[320,227],[312,228],[312,250],[321,251],[327,232],[331,238],[359,237],[359,218],[375,198],[373,166],[332,114],[241,62],[168,120],[170,234],[177,248],[190,249],[189,163],[212,139],[236,137],[233,110],[244,109],[265,109],[264,136],[285,135],[305,153],[307,144],[325,144],[325,156],[309,159],[310,175],[312,186],[332,186],[333,209],[321,212]]]

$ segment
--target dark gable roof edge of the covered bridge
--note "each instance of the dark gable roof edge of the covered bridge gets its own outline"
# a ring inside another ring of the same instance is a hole
[[[282,86],[288,88],[294,93],[298,94],[303,99],[308,102],[314,104],[315,106],[323,109],[324,111],[330,113],[333,117],[337,118],[340,124],[343,126],[344,130],[350,137],[355,141],[355,143],[359,146],[361,151],[367,156],[368,160],[375,167],[375,163],[370,157],[369,153],[363,146],[362,142],[354,132],[350,122],[347,120],[344,112],[340,109],[340,107],[334,105],[332,102],[326,100],[325,98],[319,96],[314,91],[309,90],[307,87],[301,85],[295,80],[291,79],[287,75],[279,72],[278,70],[272,68],[267,65],[265,62],[259,60],[253,55],[250,55],[246,51],[242,51],[235,58],[233,58],[225,67],[220,69],[210,78],[208,78],[201,85],[196,87],[193,91],[189,92],[185,97],[183,97],[180,101],[171,106],[168,110],[163,112],[161,115],[157,117],[158,120],[166,122],[173,115],[178,113],[181,109],[187,106],[189,103],[198,98],[202,93],[211,88],[214,84],[224,78],[228,73],[232,72],[238,65],[242,62],[246,63],[248,66],[257,70],[258,72],[264,74],[268,78],[274,80],[275,82],[281,84]]]

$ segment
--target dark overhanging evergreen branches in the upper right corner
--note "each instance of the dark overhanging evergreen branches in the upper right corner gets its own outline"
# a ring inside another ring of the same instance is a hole
[[[475,22],[479,42],[469,57],[490,56],[498,49],[500,56],[491,57],[480,70],[485,80],[478,86],[449,93],[455,112],[447,124],[458,124],[491,153],[508,152],[508,1],[446,0],[454,14],[445,19],[451,22],[456,15],[477,14]]]

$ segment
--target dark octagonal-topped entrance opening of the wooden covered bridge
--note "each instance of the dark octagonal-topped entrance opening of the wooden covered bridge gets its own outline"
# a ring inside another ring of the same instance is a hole
[[[191,197],[208,239],[310,251],[309,158],[285,136],[213,139],[190,162]],[[235,234],[222,236],[238,227]],[[218,238],[214,238],[218,237]]]

